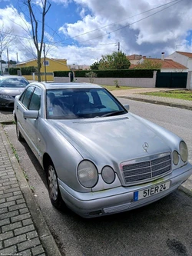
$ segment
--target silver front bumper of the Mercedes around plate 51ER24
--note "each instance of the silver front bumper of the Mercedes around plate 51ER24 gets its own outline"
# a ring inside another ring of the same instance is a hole
[[[61,197],[71,210],[84,218],[93,218],[108,214],[129,211],[134,208],[151,204],[167,194],[177,189],[187,178],[192,175],[192,165],[187,163],[182,168],[178,168],[170,175],[156,181],[148,182],[142,185],[134,185],[129,187],[111,188],[104,191],[82,193],[74,191],[58,179]],[[134,201],[134,192],[150,188],[170,181],[170,188],[166,191],[151,195],[150,197]]]

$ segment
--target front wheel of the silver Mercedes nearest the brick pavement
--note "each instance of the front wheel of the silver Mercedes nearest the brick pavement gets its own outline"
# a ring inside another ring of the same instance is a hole
[[[51,200],[51,204],[59,210],[66,208],[64,201],[61,198],[61,193],[58,187],[58,175],[55,171],[53,163],[50,161],[47,167],[47,179],[48,179],[48,194]]]

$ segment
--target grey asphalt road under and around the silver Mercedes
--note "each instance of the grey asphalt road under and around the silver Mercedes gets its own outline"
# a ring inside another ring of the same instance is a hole
[[[192,111],[121,99],[131,111],[174,131],[187,142],[192,159]],[[15,125],[5,125],[35,199],[63,255],[190,256],[192,198],[174,191],[147,207],[104,218],[83,219],[51,206],[44,171],[25,142],[17,141]]]

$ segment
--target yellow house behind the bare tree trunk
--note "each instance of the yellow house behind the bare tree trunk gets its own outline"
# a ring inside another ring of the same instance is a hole
[[[17,68],[24,68],[24,67],[37,67],[37,60],[32,59],[28,62],[21,62],[15,65]],[[41,81],[45,81],[45,69],[46,69],[46,80],[53,81],[53,72],[54,71],[69,71],[67,65],[67,60],[65,58],[41,58]],[[24,75],[28,80],[36,80],[38,81],[38,76],[35,74],[33,75]]]

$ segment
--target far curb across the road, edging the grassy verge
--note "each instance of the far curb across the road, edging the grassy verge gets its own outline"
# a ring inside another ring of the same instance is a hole
[[[164,102],[164,101],[154,101],[154,100],[150,100],[150,99],[135,98],[135,97],[131,97],[131,96],[115,96],[115,97],[117,97],[117,98],[127,98],[127,99],[131,99],[133,101],[144,101],[144,102],[147,102],[147,103],[152,103],[152,104],[157,104],[157,105],[165,105],[165,106],[169,106],[169,107],[184,108],[184,109],[192,110],[192,107],[190,107],[190,106],[178,105],[178,104]]]

